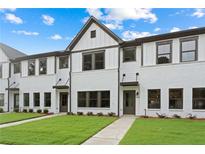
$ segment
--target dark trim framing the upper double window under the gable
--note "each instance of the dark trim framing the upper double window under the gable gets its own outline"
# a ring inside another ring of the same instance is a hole
[[[103,63],[102,69],[95,69],[95,54],[96,53],[104,54],[104,63]],[[84,56],[85,55],[91,55],[91,69],[90,70],[84,70],[83,66],[84,66]],[[103,70],[103,69],[105,69],[105,50],[82,53],[82,71]]]

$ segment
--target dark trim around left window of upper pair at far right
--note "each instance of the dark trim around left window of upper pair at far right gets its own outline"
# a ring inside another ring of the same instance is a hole
[[[170,45],[170,53],[163,53],[163,54],[159,54],[159,51],[158,51],[158,49],[159,49],[159,46],[160,45],[167,45],[167,44],[169,44]],[[162,65],[162,64],[170,64],[170,63],[172,63],[172,47],[173,46],[173,40],[169,40],[169,41],[161,41],[161,42],[156,42],[156,64],[157,65]],[[162,64],[159,64],[158,63],[158,57],[159,56],[161,56],[161,55],[169,55],[170,56],[170,62],[169,63],[162,63]]]

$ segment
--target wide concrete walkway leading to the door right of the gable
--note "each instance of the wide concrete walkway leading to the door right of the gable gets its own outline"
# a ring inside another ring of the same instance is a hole
[[[135,120],[135,116],[123,116],[110,124],[82,145],[117,145]]]

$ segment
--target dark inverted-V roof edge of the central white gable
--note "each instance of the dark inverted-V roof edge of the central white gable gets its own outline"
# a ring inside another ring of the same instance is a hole
[[[100,28],[102,28],[107,34],[109,34],[118,43],[122,43],[123,42],[123,40],[120,37],[118,37],[115,33],[113,33],[109,28],[107,28],[104,24],[102,24],[95,17],[91,16],[88,19],[88,21],[85,23],[83,28],[80,30],[80,32],[75,36],[75,38],[68,45],[68,47],[66,48],[67,51],[72,50],[74,48],[74,46],[78,43],[78,41],[81,39],[83,34],[87,31],[87,29],[90,27],[90,25],[92,23],[97,24]]]

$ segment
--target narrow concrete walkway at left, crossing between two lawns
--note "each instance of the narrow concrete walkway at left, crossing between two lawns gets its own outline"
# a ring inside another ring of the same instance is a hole
[[[52,115],[42,116],[42,117],[38,117],[38,118],[32,118],[32,119],[27,119],[27,120],[22,120],[22,121],[17,121],[17,122],[11,122],[11,123],[7,123],[7,124],[2,124],[2,125],[0,125],[0,128],[10,127],[10,126],[16,126],[16,125],[24,124],[24,123],[27,123],[27,122],[32,122],[32,121],[47,119],[47,118],[56,117],[56,116],[60,116],[60,115],[66,115],[66,113],[52,114]]]

